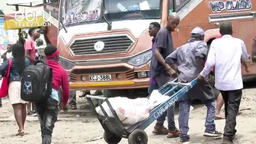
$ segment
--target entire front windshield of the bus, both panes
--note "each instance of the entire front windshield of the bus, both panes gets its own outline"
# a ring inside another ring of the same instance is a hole
[[[102,14],[107,21],[158,19],[161,5],[161,0],[63,0],[61,21],[70,27],[102,22]]]

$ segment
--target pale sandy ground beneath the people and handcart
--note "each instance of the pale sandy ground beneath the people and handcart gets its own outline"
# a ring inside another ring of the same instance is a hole
[[[81,99],[79,101],[82,101]],[[40,143],[40,125],[37,117],[27,117],[25,124],[25,136],[15,136],[18,126],[12,114],[11,105],[8,100],[3,100],[0,108],[0,143],[1,144],[36,144]],[[251,110],[242,110],[248,109]],[[241,104],[242,114],[237,120],[236,144],[256,143],[256,88],[245,89]],[[222,139],[209,139],[203,137],[204,121],[206,117],[206,107],[194,105],[190,118],[190,142],[203,144],[219,144]],[[176,120],[178,115],[176,115]],[[178,124],[178,122],[177,122]],[[167,139],[166,136],[154,136],[152,134],[154,123],[146,129],[149,136],[149,144],[156,143],[178,143],[179,139]],[[216,128],[223,131],[225,120],[216,120]],[[104,144],[102,139],[103,130],[95,117],[78,117],[74,114],[59,114],[59,120],[53,131],[54,144]],[[121,144],[127,144],[127,139],[123,139]]]

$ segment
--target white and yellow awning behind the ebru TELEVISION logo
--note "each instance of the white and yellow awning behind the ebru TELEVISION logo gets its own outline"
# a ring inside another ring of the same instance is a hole
[[[32,14],[25,14],[29,12],[34,13],[34,17]],[[43,21],[42,12],[43,6],[40,6],[34,8],[25,8],[23,11],[16,11],[14,14],[5,14],[5,29],[11,30],[30,27],[42,27],[43,24],[45,24]],[[25,17],[27,17],[27,19]]]

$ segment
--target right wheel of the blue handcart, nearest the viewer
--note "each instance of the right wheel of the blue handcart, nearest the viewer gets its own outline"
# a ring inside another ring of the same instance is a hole
[[[148,135],[144,130],[136,129],[128,136],[129,144],[147,144]]]

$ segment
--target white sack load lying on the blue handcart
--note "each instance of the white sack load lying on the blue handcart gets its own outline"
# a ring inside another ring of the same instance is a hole
[[[129,99],[116,97],[108,98],[108,101],[110,101],[117,117],[124,126],[131,126],[149,117],[150,104],[148,98]],[[114,117],[114,114],[112,114],[106,102],[102,104],[102,107],[104,107],[109,117]],[[104,116],[101,107],[96,107],[96,111],[101,116]]]

